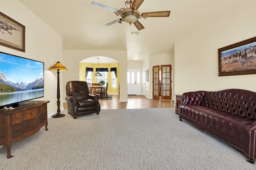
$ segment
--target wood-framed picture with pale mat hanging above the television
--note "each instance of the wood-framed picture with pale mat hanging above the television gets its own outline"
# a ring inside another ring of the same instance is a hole
[[[0,45],[25,52],[25,26],[0,12]]]

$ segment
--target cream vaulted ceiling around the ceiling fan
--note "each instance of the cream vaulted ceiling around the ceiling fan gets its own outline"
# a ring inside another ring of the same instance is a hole
[[[142,12],[170,10],[169,17],[140,18],[145,27],[138,35],[134,25],[117,20],[113,11],[91,5],[95,1],[106,6],[125,8],[125,0],[20,0],[24,6],[41,18],[63,37],[64,50],[127,51],[128,61],[139,57],[174,50],[174,43],[198,27],[213,23],[236,0],[144,0],[138,8]],[[97,63],[92,59],[92,63]]]

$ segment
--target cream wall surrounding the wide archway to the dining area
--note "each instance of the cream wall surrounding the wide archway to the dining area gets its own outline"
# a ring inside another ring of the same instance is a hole
[[[119,61],[119,79],[120,79],[120,102],[128,101],[127,92],[127,51],[93,51],[93,50],[64,50],[63,64],[68,68],[64,72],[63,94],[66,96],[66,83],[71,80],[79,80],[79,62],[83,59],[104,56]],[[65,97],[63,96],[63,101]]]

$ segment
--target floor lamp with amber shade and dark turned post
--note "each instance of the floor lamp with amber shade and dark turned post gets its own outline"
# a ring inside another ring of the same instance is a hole
[[[57,70],[58,74],[58,82],[57,82],[57,113],[53,115],[52,117],[58,118],[58,117],[64,117],[64,114],[60,114],[60,72],[59,71],[66,71],[68,70],[64,65],[60,64],[58,61],[56,64],[51,66],[49,70]]]

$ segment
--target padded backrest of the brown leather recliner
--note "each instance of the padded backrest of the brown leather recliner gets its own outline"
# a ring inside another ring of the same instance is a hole
[[[69,81],[66,84],[67,96],[76,96],[78,99],[87,99],[89,96],[89,87],[84,81]]]

